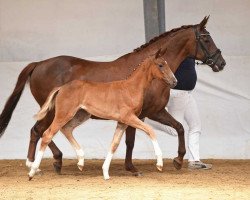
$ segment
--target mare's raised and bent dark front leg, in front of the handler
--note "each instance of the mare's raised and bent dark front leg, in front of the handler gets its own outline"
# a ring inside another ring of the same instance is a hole
[[[179,143],[178,157],[174,158],[173,164],[176,169],[181,169],[183,165],[183,157],[186,154],[184,128],[182,124],[176,121],[165,109],[162,109],[160,112],[155,113],[149,118],[164,125],[171,126],[177,131]]]

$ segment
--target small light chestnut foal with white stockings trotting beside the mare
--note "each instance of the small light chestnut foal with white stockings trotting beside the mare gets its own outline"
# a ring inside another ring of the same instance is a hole
[[[160,57],[160,50],[155,56],[145,59],[126,80],[109,83],[74,80],[55,88],[35,116],[37,120],[43,119],[55,105],[55,117],[43,134],[40,150],[29,172],[29,179],[32,179],[38,169],[44,151],[53,136],[60,129],[67,130],[67,123],[79,109],[83,110],[82,121],[88,120],[91,115],[117,121],[111,147],[102,167],[104,179],[109,179],[108,171],[112,156],[128,126],[141,129],[150,137],[157,157],[156,166],[158,170],[162,171],[162,152],[156,135],[149,125],[138,118],[142,111],[145,91],[153,79],[163,80],[170,87],[174,87],[177,83],[167,62]],[[72,131],[63,131],[63,133],[75,149],[78,167],[82,170],[84,165],[82,148],[74,139]]]

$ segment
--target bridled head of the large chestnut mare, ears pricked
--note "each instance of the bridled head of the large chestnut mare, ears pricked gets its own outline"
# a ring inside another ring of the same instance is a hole
[[[200,24],[193,27],[196,42],[194,57],[210,66],[214,72],[218,72],[224,68],[226,62],[220,49],[216,47],[210,33],[206,30],[208,19],[209,16],[205,17]]]

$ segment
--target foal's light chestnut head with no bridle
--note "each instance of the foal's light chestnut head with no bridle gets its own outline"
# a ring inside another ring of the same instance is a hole
[[[171,71],[166,60],[163,59],[165,50],[158,50],[153,58],[152,73],[154,78],[163,80],[169,87],[174,88],[177,84],[173,72]]]

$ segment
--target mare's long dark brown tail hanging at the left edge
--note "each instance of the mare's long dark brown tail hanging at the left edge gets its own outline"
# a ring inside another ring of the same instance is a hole
[[[0,115],[0,137],[4,134],[4,131],[10,122],[12,113],[22,95],[25,84],[28,82],[28,79],[35,69],[36,64],[37,63],[30,63],[18,76],[15,89],[5,103],[4,109]]]

